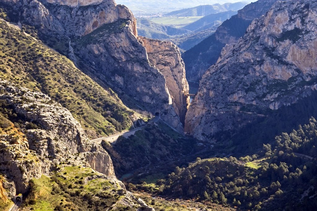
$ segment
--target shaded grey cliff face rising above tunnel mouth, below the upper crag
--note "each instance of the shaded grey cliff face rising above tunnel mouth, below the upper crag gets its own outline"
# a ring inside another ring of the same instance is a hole
[[[166,78],[150,65],[146,48],[128,27],[129,20],[104,24],[74,41],[78,56],[94,67],[101,80],[112,84],[143,108],[160,113],[169,125],[183,132],[183,126],[166,86]]]

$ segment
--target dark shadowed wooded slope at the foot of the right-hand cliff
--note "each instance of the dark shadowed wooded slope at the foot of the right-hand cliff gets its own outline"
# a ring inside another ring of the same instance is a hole
[[[239,158],[258,152],[263,144],[274,144],[275,136],[283,132],[292,132],[298,125],[309,121],[312,116],[317,118],[316,106],[317,95],[313,94],[296,104],[283,106],[278,110],[262,111],[259,114],[265,115],[264,117],[259,117],[245,127],[218,133],[212,137],[218,142],[209,156],[215,153],[230,153]]]

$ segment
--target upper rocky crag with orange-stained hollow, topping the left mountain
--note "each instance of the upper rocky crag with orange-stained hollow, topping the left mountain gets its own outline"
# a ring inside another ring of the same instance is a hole
[[[84,36],[103,24],[113,23],[120,19],[127,20],[134,36],[138,36],[136,30],[136,19],[132,12],[123,5],[116,5],[113,0],[82,1],[54,1],[56,3],[45,3],[50,13],[62,24],[69,37]],[[63,2],[65,4],[63,4]],[[79,4],[76,4],[78,2]],[[63,5],[67,5],[65,7]],[[74,5],[77,5],[74,7]],[[85,7],[83,7],[85,6]]]

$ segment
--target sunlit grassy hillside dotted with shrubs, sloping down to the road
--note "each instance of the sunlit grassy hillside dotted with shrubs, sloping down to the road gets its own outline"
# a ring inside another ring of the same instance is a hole
[[[41,91],[70,110],[91,137],[132,127],[128,109],[109,88],[102,88],[65,56],[0,20],[0,77]]]

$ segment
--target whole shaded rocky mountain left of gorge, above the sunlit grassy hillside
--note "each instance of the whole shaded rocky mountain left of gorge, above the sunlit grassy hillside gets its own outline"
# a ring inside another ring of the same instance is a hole
[[[9,9],[11,4],[14,9]],[[33,4],[39,6],[32,7]],[[125,104],[153,114],[158,112],[171,126],[183,131],[166,79],[150,65],[146,49],[138,40],[136,20],[125,6],[106,0],[86,6],[80,2],[35,0],[4,1],[3,8],[10,11],[12,20],[36,27],[47,43],[54,43],[50,34],[56,35],[58,40],[52,47],[62,48],[82,71],[108,85]],[[32,12],[22,13],[24,8]]]

